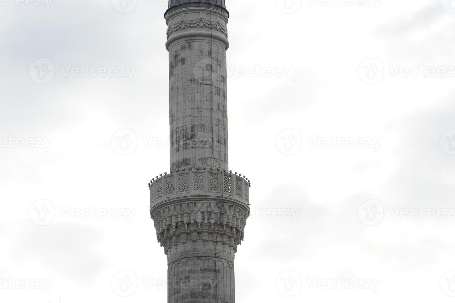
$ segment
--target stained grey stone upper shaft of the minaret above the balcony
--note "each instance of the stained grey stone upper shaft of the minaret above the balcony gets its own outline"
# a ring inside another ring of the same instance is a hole
[[[227,11],[168,11],[171,169],[227,169]]]

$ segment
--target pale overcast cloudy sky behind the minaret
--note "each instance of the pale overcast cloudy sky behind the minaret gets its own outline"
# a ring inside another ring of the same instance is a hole
[[[1,302],[167,302],[167,0],[119,1],[0,0]],[[286,1],[226,0],[237,302],[453,302],[455,2]]]

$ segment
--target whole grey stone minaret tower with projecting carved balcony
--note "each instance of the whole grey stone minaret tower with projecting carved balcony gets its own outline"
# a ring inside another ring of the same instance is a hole
[[[170,173],[152,179],[150,214],[168,264],[168,303],[234,303],[234,253],[250,181],[228,170],[225,0],[170,0]]]

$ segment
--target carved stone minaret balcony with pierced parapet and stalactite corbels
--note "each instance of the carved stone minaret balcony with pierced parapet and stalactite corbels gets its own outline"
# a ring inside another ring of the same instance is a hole
[[[233,255],[250,212],[249,187],[245,176],[221,169],[183,169],[153,179],[150,216],[167,256],[197,245]]]

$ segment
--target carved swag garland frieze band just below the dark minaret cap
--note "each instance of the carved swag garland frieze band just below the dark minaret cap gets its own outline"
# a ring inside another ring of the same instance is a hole
[[[227,38],[227,22],[216,14],[204,12],[190,12],[174,15],[167,26],[167,38],[178,30],[188,28],[206,28],[217,30]]]

